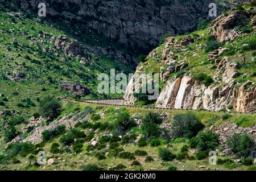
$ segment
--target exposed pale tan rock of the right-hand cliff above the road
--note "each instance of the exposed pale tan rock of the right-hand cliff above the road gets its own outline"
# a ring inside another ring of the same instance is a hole
[[[210,25],[209,34],[214,35],[220,42],[233,42],[234,45],[237,43],[235,39],[238,36],[255,34],[255,32],[246,33],[235,31],[241,26],[238,23],[239,19],[251,19],[251,26],[255,29],[253,17],[253,13],[232,10],[229,15],[221,15],[214,20]],[[159,94],[155,106],[173,109],[256,111],[255,78],[250,78],[251,80],[248,79],[241,84],[236,81],[236,78],[242,74],[240,65],[245,63],[242,63],[240,61],[241,59],[238,60],[237,57],[221,56],[223,53],[229,51],[229,48],[225,47],[219,47],[213,52],[203,55],[199,51],[200,49],[204,50],[204,46],[201,45],[203,42],[200,42],[203,39],[195,39],[197,40],[188,36],[184,36],[182,40],[177,40],[174,37],[168,38],[166,39],[166,43],[161,46],[163,48],[160,51],[159,49],[154,49],[148,55],[146,63],[142,63],[137,67],[136,73],[145,73],[145,70],[151,70],[150,64],[154,64],[154,66],[159,65],[160,67],[160,82],[164,83],[164,87]],[[193,44],[196,41],[197,43]],[[188,48],[191,44],[193,45]],[[205,56],[205,60],[200,58],[203,56]],[[243,57],[243,55],[237,56]],[[162,60],[159,60],[159,57]],[[209,73],[206,73],[206,75],[210,73],[213,75],[213,80],[209,85],[203,84],[195,79],[195,75],[198,73],[192,71],[195,68],[192,68],[191,64],[195,64],[193,62],[197,59],[203,60],[197,67],[204,67],[204,64],[212,64],[210,65],[212,67],[210,69],[209,66],[200,69],[203,72],[207,70]],[[247,56],[246,59],[254,61],[254,57]],[[153,61],[149,64],[149,60]],[[154,60],[158,61],[154,62]],[[187,68],[189,66],[191,68]],[[182,74],[180,74],[181,76],[175,76],[176,73]],[[246,73],[244,74],[246,75]],[[146,83],[144,82],[143,84]],[[138,90],[138,86],[138,84],[133,85],[131,82],[129,83],[124,97],[124,104],[135,104],[137,99],[133,96],[131,90],[133,87]]]

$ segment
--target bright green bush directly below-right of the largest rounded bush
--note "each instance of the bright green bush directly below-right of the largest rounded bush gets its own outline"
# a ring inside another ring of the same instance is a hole
[[[218,135],[212,131],[200,131],[190,140],[189,144],[192,148],[198,148],[201,151],[214,150],[218,146]]]

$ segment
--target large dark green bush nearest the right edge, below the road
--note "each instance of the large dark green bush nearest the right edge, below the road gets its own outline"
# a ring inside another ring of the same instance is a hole
[[[254,150],[254,140],[248,134],[234,134],[226,140],[226,144],[231,152],[247,157]]]

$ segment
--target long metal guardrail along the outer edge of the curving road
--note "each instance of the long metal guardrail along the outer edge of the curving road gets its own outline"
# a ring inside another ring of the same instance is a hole
[[[142,109],[159,109],[159,110],[183,110],[183,111],[208,111],[208,112],[216,112],[216,113],[228,113],[228,114],[256,114],[256,112],[251,113],[243,113],[236,111],[214,111],[214,110],[206,110],[206,109],[174,109],[171,107],[155,107],[155,106],[138,106],[138,105],[121,105],[121,104],[107,104],[107,103],[95,103],[93,101],[111,101],[111,100],[121,100],[120,98],[114,99],[84,99],[84,100],[75,100],[77,102],[85,102],[88,104],[97,104],[97,105],[106,105],[106,106],[121,106],[121,107],[129,107],[129,108],[142,108]]]

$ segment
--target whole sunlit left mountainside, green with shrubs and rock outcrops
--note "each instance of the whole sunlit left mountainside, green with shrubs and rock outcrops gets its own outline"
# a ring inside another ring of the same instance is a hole
[[[111,68],[133,72],[131,66],[90,52],[81,39],[47,22],[15,12],[0,15],[1,115],[30,115],[47,95],[107,97],[97,93],[99,73],[109,74]]]

